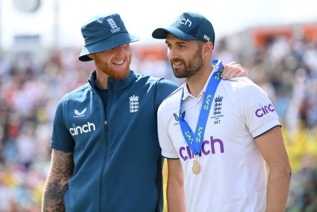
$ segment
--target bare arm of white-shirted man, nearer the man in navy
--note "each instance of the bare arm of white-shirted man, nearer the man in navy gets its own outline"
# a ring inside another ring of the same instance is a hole
[[[179,159],[167,159],[167,209],[169,212],[185,212],[184,175]]]

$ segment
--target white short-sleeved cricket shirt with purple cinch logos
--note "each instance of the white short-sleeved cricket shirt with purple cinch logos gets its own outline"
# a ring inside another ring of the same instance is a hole
[[[185,85],[182,113],[193,132],[209,80],[197,98]],[[178,121],[183,86],[159,106],[158,133],[162,156],[181,161],[187,211],[264,212],[267,173],[254,138],[280,126],[267,95],[248,77],[220,81],[198,158],[201,173],[195,175],[194,154]]]

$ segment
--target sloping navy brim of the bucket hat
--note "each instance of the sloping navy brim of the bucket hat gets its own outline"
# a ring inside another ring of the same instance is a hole
[[[113,49],[117,46],[120,46],[126,43],[132,43],[138,40],[140,40],[138,36],[131,35],[127,32],[118,33],[100,42],[84,46],[84,48],[81,50],[78,60],[83,62],[91,61],[93,59],[88,57],[87,56],[88,54],[103,52],[109,49]]]

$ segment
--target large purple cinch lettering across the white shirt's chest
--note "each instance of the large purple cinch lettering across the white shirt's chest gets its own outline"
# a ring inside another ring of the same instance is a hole
[[[219,143],[220,146],[220,153],[224,153],[224,147],[223,147],[223,142],[220,139],[213,139],[213,137],[210,137],[210,141],[206,140],[202,144],[202,150],[199,153],[199,156],[202,156],[202,153],[204,155],[209,155],[215,154],[215,148],[214,148],[214,143]],[[194,158],[195,154],[190,150],[189,146],[181,146],[179,148],[179,155],[180,157],[186,161],[189,157],[189,159]]]

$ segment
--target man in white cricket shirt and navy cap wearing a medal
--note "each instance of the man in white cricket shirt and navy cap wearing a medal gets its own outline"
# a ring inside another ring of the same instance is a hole
[[[174,75],[186,78],[158,110],[168,211],[283,212],[291,167],[267,95],[247,77],[219,78],[203,15],[182,13],[152,36],[166,39]]]

